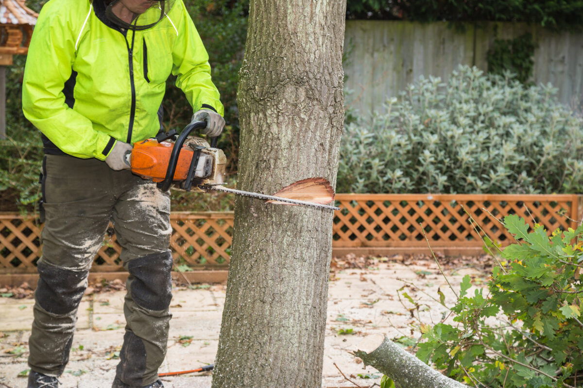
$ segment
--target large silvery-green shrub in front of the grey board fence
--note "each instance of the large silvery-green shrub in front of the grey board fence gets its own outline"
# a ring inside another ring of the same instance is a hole
[[[421,77],[370,123],[346,125],[338,191],[577,193],[583,119],[552,86],[460,66]]]

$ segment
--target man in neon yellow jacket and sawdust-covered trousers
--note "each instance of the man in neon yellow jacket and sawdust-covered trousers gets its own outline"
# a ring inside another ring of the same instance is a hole
[[[129,170],[131,144],[161,130],[166,80],[177,76],[202,131],[223,105],[182,0],[51,0],[38,17],[23,111],[40,131],[43,257],[29,340],[29,387],[57,387],[87,275],[108,223],[128,270],[127,321],[113,387],[161,387],[171,299],[170,196]]]

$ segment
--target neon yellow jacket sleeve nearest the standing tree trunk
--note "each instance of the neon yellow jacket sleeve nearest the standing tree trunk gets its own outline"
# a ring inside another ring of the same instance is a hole
[[[219,90],[210,79],[209,55],[201,37],[184,3],[177,0],[174,6],[180,7],[178,37],[174,42],[172,54],[174,63],[172,73],[177,76],[176,86],[184,91],[194,111],[206,105],[212,106],[217,113],[224,115]]]

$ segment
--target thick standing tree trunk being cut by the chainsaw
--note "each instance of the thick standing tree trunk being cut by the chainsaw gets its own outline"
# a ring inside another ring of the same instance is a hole
[[[237,188],[336,183],[346,1],[251,0]],[[213,387],[320,387],[329,210],[238,197]]]

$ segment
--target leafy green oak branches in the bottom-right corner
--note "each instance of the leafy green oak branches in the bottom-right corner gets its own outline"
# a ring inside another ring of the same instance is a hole
[[[540,225],[528,233],[517,215],[504,226],[521,244],[501,251],[486,294],[469,294],[463,278],[454,325],[422,325],[417,357],[472,386],[582,387],[583,226],[550,238]]]

